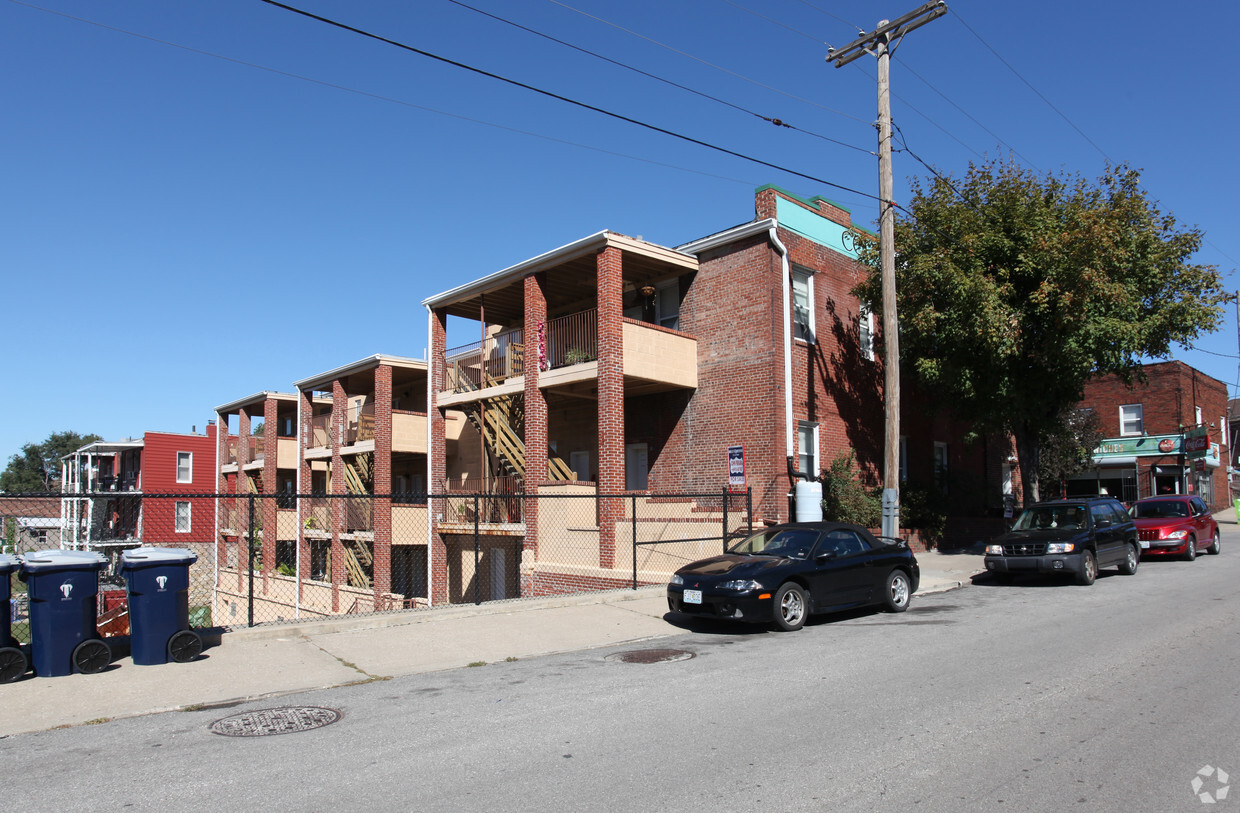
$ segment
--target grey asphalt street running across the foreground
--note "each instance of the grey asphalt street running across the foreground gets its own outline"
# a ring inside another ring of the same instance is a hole
[[[1224,525],[1219,556],[1091,587],[980,578],[796,633],[668,616],[683,632],[649,644],[15,735],[0,739],[5,806],[1225,809],[1240,804],[1223,794],[1240,780],[1238,578],[1240,532]],[[656,648],[692,657],[618,657]],[[288,705],[342,718],[208,730]]]

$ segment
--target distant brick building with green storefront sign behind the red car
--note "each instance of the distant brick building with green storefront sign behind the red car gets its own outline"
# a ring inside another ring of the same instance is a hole
[[[1094,467],[1066,483],[1069,494],[1109,493],[1126,502],[1152,494],[1197,494],[1211,509],[1230,502],[1228,388],[1184,362],[1146,364],[1128,387],[1105,376],[1085,387],[1105,439]]]

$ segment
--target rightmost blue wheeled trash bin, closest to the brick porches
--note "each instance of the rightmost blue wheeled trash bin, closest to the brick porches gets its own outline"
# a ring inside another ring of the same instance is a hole
[[[185,548],[134,548],[120,554],[129,590],[129,653],[139,666],[193,661],[202,638],[190,630],[190,565]]]

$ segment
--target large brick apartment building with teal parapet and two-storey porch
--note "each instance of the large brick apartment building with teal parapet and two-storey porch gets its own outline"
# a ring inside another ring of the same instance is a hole
[[[709,494],[727,485],[729,449],[740,447],[756,518],[781,522],[794,514],[797,482],[837,454],[854,452],[862,477],[877,482],[883,373],[874,319],[852,294],[866,274],[856,242],[868,237],[831,201],[773,186],[758,190],[755,214],[675,249],[599,232],[424,300],[432,483],[515,478],[539,496]],[[480,455],[448,454],[448,409],[469,416],[459,445],[480,445]],[[906,471],[941,476],[952,439],[931,435],[942,424],[929,418],[911,425]],[[978,481],[993,472],[994,506],[1008,455],[1004,444],[955,450]],[[632,534],[650,529],[630,523],[624,499],[599,498],[590,527],[575,529],[593,550],[590,566],[548,560],[543,540],[574,529],[558,525],[558,513],[539,516],[549,503],[532,502],[494,538],[498,547],[502,534],[521,535],[520,561],[492,560],[516,575],[521,595],[605,585],[630,568],[651,581],[670,573],[671,553],[634,561]],[[466,544],[476,525],[446,508],[432,507],[435,602],[477,576]],[[687,506],[665,528],[702,508]]]

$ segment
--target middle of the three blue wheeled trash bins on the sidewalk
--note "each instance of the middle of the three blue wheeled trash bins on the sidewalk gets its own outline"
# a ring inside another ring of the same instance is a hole
[[[88,550],[41,550],[22,556],[30,594],[30,653],[35,674],[55,678],[103,672],[112,649],[99,638],[99,570],[107,559]]]

